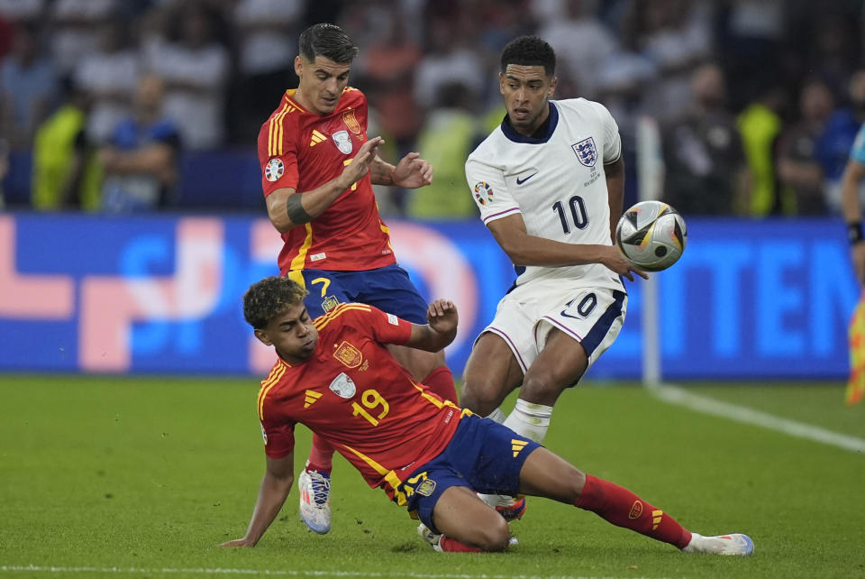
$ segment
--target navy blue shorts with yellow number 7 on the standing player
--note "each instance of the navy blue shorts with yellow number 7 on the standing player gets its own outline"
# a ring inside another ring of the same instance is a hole
[[[427,303],[408,273],[396,263],[377,270],[302,270],[289,275],[296,280],[297,273],[303,275],[309,292],[304,300],[309,317],[319,317],[338,304],[355,301],[414,324],[426,324]]]

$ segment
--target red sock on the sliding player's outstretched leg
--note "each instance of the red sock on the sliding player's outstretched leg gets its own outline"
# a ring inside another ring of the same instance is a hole
[[[631,528],[678,548],[691,541],[691,532],[664,511],[624,487],[590,474],[586,475],[586,485],[574,506],[591,510],[618,527]]]

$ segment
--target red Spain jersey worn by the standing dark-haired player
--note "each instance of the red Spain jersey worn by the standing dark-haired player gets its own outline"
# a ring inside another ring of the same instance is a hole
[[[316,115],[288,90],[259,131],[264,196],[278,188],[310,191],[340,176],[367,141],[367,97],[346,87],[330,115]],[[369,173],[310,223],[282,234],[279,271],[359,271],[396,263],[378,215]]]

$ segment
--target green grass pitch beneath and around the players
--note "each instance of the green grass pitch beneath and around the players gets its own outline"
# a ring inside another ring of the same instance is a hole
[[[687,528],[748,533],[755,556],[685,556],[592,513],[541,499],[530,500],[526,518],[514,523],[520,545],[511,552],[436,554],[417,538],[405,510],[370,490],[339,457],[330,534],[314,535],[297,519],[295,488],[258,547],[217,547],[243,534],[263,473],[257,388],[252,379],[0,376],[0,579],[253,571],[865,575],[865,456],[697,414],[635,386],[566,392],[547,446],[631,488]],[[837,384],[698,385],[693,391],[865,437],[865,405],[845,408]],[[298,428],[296,469],[308,444],[308,432]],[[27,565],[39,570],[21,569]]]

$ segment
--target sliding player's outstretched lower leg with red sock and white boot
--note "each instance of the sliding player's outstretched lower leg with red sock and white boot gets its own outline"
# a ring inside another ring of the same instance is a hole
[[[591,510],[602,519],[669,543],[686,553],[751,555],[751,538],[741,534],[703,537],[633,492],[583,473],[543,447],[533,450],[520,470],[520,492]]]

